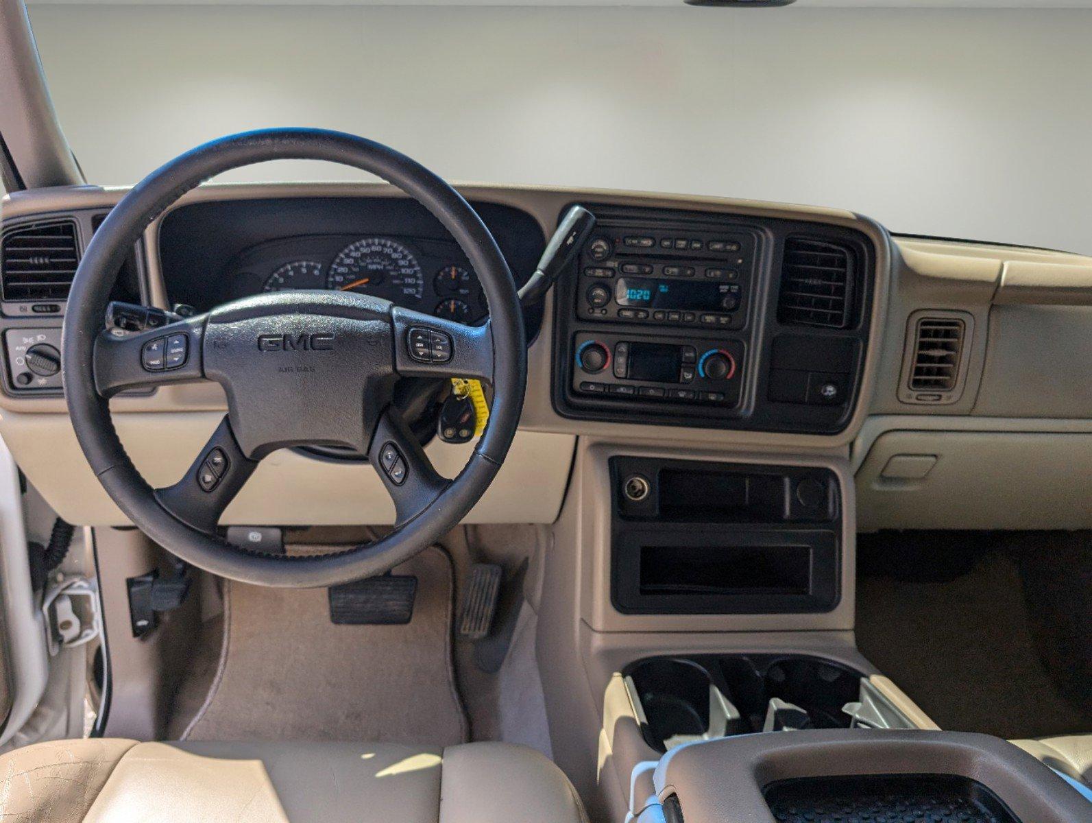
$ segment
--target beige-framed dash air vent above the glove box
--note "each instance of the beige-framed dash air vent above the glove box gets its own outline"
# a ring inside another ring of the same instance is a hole
[[[914,403],[952,403],[963,393],[971,339],[970,315],[915,311],[906,328],[906,353],[900,399]]]

